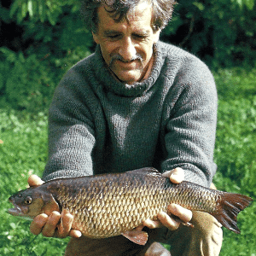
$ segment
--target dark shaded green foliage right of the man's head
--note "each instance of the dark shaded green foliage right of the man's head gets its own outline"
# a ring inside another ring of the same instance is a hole
[[[212,67],[255,65],[254,0],[177,1],[173,19],[162,33]]]

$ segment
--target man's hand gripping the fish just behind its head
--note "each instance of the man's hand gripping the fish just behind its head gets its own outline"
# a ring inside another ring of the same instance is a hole
[[[28,178],[27,183],[32,186],[41,185],[44,181],[37,175],[32,175]],[[51,212],[48,216],[45,213],[41,213],[32,220],[30,230],[32,234],[39,235],[42,233],[43,236],[61,237],[66,236],[80,237],[82,236],[79,230],[72,230],[73,215],[63,210],[60,212]]]

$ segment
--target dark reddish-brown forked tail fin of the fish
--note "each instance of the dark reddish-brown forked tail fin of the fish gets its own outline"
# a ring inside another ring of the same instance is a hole
[[[237,227],[237,214],[248,207],[253,199],[247,195],[223,192],[218,202],[218,213],[212,214],[228,230],[240,234]]]

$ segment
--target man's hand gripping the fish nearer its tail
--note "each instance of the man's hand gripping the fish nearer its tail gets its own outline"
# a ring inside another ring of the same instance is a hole
[[[170,177],[172,183],[181,183],[184,179],[184,172],[182,168],[175,168],[170,172],[165,172],[164,177]],[[187,223],[192,218],[192,212],[186,208],[183,208],[176,204],[170,204],[168,206],[168,213],[177,216],[182,222]],[[149,229],[156,229],[166,226],[169,230],[177,230],[181,222],[175,218],[170,217],[166,212],[159,212],[157,215],[157,221],[146,219],[143,222],[144,226]]]

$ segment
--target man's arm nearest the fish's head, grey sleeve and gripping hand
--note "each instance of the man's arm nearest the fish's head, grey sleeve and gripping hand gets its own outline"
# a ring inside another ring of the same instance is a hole
[[[84,99],[91,99],[90,90],[84,86],[83,77],[74,69],[70,70],[55,90],[49,108],[49,158],[43,179],[57,177],[79,177],[93,174],[91,151],[95,144],[94,123],[90,108]],[[80,86],[81,87],[81,86]],[[96,104],[96,102],[93,102]],[[91,106],[92,109],[96,105]],[[44,181],[35,175],[28,179],[30,186]],[[69,212],[42,213],[33,219],[31,231],[34,235],[66,237],[81,236],[71,229],[73,216]]]

